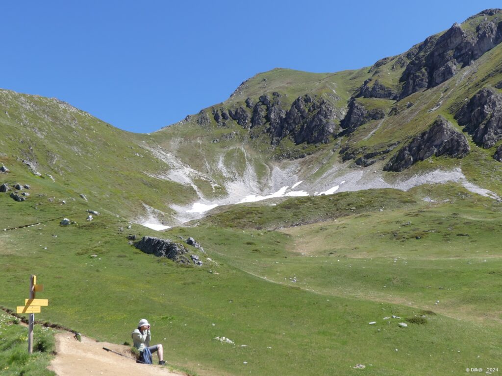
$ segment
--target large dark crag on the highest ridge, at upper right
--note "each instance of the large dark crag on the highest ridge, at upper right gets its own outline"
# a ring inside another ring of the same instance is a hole
[[[457,66],[465,67],[502,41],[502,21],[481,23],[474,34],[454,24],[440,37],[429,37],[407,56],[410,63],[400,78],[400,98],[453,77]]]

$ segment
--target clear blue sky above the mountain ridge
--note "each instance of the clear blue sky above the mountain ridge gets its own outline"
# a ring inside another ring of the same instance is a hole
[[[2,2],[0,87],[151,132],[275,67],[336,72],[396,55],[498,1]]]

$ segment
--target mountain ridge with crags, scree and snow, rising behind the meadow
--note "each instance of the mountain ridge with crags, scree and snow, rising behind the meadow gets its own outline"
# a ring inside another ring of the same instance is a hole
[[[502,11],[486,10],[369,68],[258,74],[144,135],[2,91],[0,163],[167,225],[263,198],[452,180],[502,195],[500,41]]]

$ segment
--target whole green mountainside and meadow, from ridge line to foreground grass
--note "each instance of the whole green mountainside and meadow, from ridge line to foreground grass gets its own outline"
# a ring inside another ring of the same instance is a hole
[[[0,306],[36,274],[37,319],[123,343],[148,318],[167,362],[201,376],[498,367],[500,14],[372,67],[257,74],[152,134],[0,91]],[[239,204],[252,195],[271,198]],[[0,369],[29,372],[10,320]]]

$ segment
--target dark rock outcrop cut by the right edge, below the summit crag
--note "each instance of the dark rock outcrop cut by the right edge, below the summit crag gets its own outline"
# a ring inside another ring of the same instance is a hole
[[[502,139],[502,94],[487,88],[479,90],[457,111],[455,119],[476,144],[492,147]]]

